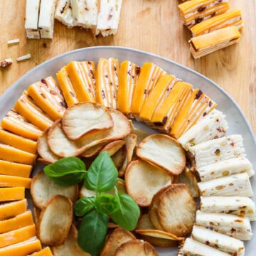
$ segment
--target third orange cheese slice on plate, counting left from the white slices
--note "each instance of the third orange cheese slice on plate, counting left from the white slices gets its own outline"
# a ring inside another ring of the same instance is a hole
[[[145,122],[149,122],[154,110],[169,95],[174,84],[177,82],[174,75],[162,75],[156,86],[151,91],[149,97],[146,98],[139,117]]]

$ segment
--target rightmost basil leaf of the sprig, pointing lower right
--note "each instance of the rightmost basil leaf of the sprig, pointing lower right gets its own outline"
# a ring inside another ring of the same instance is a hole
[[[112,219],[125,230],[134,230],[139,219],[139,206],[127,193],[118,193],[119,210],[111,214]]]

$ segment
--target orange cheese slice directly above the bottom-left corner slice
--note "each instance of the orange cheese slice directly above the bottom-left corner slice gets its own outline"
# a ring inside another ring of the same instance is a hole
[[[33,238],[35,235],[35,224],[0,234],[0,248],[6,247],[8,245],[14,245],[18,242],[23,242],[29,238]]]

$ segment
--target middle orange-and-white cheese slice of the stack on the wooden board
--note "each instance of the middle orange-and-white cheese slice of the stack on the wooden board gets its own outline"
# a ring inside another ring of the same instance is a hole
[[[238,30],[244,28],[244,23],[242,21],[241,11],[236,9],[233,11],[228,11],[224,14],[213,16],[208,18],[206,21],[196,24],[191,28],[192,36],[200,36],[205,33],[210,33],[216,31],[220,28],[225,28],[227,26],[237,26]]]

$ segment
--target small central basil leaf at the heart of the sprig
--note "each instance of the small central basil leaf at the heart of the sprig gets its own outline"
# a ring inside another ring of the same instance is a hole
[[[112,214],[119,210],[119,200],[116,196],[102,193],[97,196],[96,209],[100,213]]]

